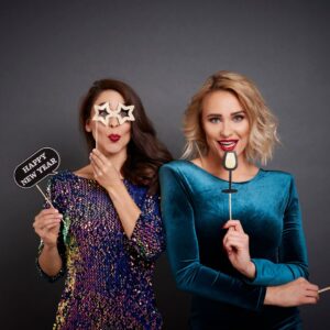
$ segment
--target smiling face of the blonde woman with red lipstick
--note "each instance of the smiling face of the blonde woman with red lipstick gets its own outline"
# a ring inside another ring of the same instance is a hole
[[[223,158],[224,152],[235,151],[239,158],[245,157],[250,124],[238,98],[226,90],[212,91],[204,98],[201,109],[208,153]]]

